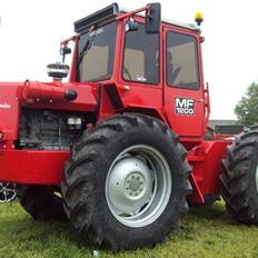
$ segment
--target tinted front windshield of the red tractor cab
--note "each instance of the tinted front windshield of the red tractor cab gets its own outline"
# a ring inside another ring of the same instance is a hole
[[[79,81],[99,81],[111,78],[116,34],[117,23],[112,22],[80,36]]]

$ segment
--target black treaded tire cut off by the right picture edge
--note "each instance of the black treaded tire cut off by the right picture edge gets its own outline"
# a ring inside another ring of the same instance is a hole
[[[228,147],[222,163],[220,181],[227,210],[242,224],[258,225],[258,127]]]

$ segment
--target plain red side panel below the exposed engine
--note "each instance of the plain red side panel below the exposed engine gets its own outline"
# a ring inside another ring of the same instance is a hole
[[[1,181],[57,185],[69,151],[0,150]]]

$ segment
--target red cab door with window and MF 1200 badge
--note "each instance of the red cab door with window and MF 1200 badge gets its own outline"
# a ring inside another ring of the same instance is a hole
[[[204,133],[205,98],[200,36],[182,28],[163,28],[163,100],[171,128],[180,137]]]

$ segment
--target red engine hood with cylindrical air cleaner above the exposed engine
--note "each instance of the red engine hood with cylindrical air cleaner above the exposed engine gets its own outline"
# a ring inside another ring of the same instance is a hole
[[[3,140],[18,139],[22,107],[93,112],[97,108],[97,88],[96,83],[61,81],[0,82],[0,131],[4,135]],[[67,90],[75,91],[77,97],[73,100],[63,98],[62,92]]]

